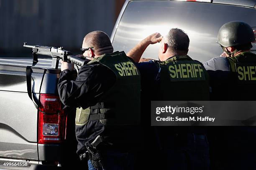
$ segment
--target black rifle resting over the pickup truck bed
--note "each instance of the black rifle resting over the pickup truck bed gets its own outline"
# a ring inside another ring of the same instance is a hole
[[[57,48],[57,47],[48,47],[48,46],[41,46],[41,45],[27,45],[26,42],[24,42],[23,47],[32,48],[33,61],[35,61],[35,62],[38,62],[38,60],[37,60],[38,54],[39,55],[48,55],[48,56],[53,57],[53,61],[55,61],[55,63],[52,64],[52,66],[54,67],[54,65],[55,65],[55,69],[57,69],[59,66],[59,59],[66,61],[66,62],[72,62],[78,67],[83,66],[84,62],[85,62],[85,60],[72,55],[72,53],[70,51],[63,50],[63,47]]]

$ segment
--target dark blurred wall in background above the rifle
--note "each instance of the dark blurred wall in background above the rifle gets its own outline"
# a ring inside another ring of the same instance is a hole
[[[79,53],[84,35],[109,36],[125,0],[0,0],[0,57],[30,57],[28,45]]]

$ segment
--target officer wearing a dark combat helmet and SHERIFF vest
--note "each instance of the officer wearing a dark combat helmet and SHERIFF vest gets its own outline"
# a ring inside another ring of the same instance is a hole
[[[204,64],[210,75],[212,100],[256,100],[256,54],[251,52],[254,41],[255,35],[247,23],[232,21],[220,27],[217,43],[224,52]],[[256,169],[256,128],[211,129],[215,139],[211,142],[214,169]]]

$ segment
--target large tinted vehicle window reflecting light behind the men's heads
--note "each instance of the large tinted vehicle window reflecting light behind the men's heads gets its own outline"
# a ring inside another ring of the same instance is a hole
[[[242,20],[256,27],[256,10],[249,7],[202,2],[131,1],[123,13],[113,39],[115,50],[128,52],[140,40],[154,32],[166,34],[181,28],[189,38],[189,56],[205,62],[218,57],[222,49],[216,43],[224,23]],[[158,58],[159,43],[150,45],[145,58]],[[253,44],[256,49],[256,44]]]

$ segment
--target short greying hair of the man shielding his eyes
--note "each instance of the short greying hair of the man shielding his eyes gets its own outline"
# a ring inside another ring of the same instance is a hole
[[[166,43],[170,50],[187,52],[189,47],[189,37],[183,30],[172,28],[166,35]]]

